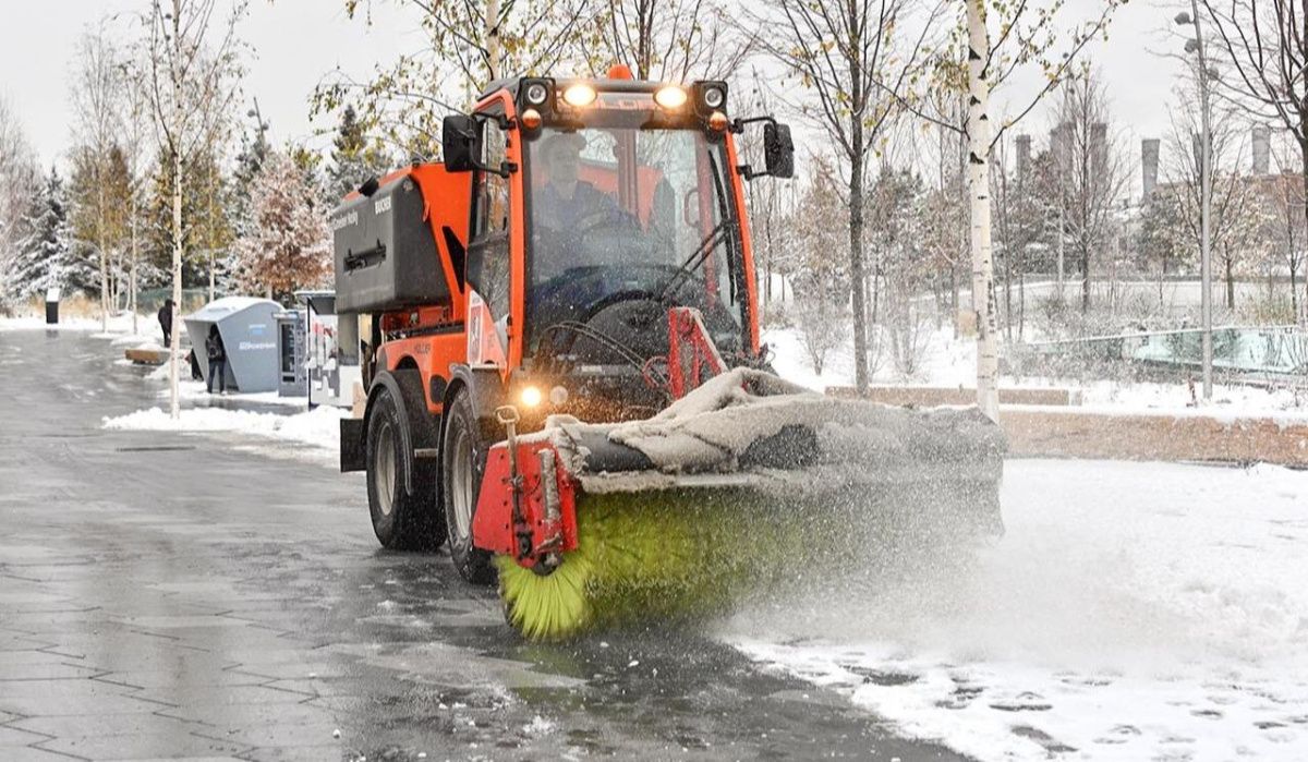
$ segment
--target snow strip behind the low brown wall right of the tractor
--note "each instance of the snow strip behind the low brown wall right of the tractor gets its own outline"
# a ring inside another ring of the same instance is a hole
[[[774,356],[777,372],[797,384],[810,389],[823,390],[828,386],[854,385],[854,352],[852,339],[827,356],[823,373],[815,373],[812,363],[803,347],[799,333],[794,329],[769,330],[763,335]],[[889,360],[876,369],[874,381],[878,384],[905,384],[895,372]],[[931,333],[922,352],[921,369],[908,384],[926,386],[974,388],[976,385],[976,346],[971,339],[955,339],[948,329]],[[1003,388],[1070,388],[1080,391],[1082,407],[1086,411],[1103,412],[1194,412],[1194,395],[1186,384],[1117,382],[1103,380],[1069,380],[1005,377]],[[1202,407],[1202,412],[1218,416],[1299,416],[1308,419],[1308,395],[1286,389],[1260,389],[1254,386],[1214,386],[1213,403]]]

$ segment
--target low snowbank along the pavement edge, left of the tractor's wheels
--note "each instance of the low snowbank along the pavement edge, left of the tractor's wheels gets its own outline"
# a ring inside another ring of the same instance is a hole
[[[233,432],[335,450],[340,449],[337,422],[347,415],[345,410],[326,406],[296,415],[191,407],[182,410],[174,420],[164,410],[152,407],[119,418],[105,418],[103,427],[118,431]]]

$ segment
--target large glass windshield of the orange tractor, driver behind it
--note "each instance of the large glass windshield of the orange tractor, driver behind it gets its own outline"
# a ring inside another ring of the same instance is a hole
[[[722,144],[697,128],[612,122],[545,127],[527,143],[530,346],[568,321],[602,330],[600,313],[619,304],[630,326],[632,302],[644,302],[661,323],[667,306],[698,308],[718,350],[742,351],[746,296]],[[662,329],[662,348],[636,350],[645,356],[667,351],[666,325],[651,329]]]

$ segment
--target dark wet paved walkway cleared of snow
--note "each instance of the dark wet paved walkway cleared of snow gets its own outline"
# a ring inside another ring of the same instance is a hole
[[[955,758],[696,632],[523,643],[358,475],[102,429],[116,352],[0,333],[0,759]]]

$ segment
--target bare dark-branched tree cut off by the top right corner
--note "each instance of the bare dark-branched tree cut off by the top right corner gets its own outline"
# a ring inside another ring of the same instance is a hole
[[[1258,122],[1278,122],[1299,148],[1308,190],[1308,5],[1303,0],[1199,0],[1219,92]],[[1211,38],[1215,35],[1215,41]],[[1308,204],[1301,209],[1308,220]]]

